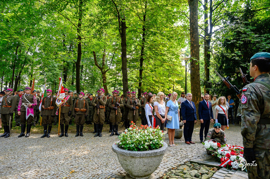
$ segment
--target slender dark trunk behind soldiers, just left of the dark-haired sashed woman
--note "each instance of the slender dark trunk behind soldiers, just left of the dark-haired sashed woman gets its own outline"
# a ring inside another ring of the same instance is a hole
[[[143,16],[143,21],[145,24],[146,19],[146,8],[147,8],[147,1],[145,2],[145,11]],[[142,92],[142,72],[143,72],[143,60],[144,60],[144,47],[145,47],[145,25],[142,26],[142,45],[141,45],[141,51],[140,51],[140,69],[139,69],[139,75],[140,75],[140,81],[139,81],[139,88],[138,88],[138,94],[140,95]]]

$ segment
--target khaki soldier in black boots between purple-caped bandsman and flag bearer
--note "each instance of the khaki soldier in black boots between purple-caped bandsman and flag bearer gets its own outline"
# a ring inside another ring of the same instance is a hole
[[[43,124],[43,137],[49,138],[51,135],[51,130],[53,126],[53,119],[55,116],[55,98],[52,96],[52,90],[47,89],[46,90],[47,97],[43,97],[41,102],[41,111],[40,116],[42,117],[42,124]],[[48,127],[48,133],[47,133],[47,125]]]

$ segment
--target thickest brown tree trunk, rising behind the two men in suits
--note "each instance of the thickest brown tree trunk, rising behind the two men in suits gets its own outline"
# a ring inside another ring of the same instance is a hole
[[[190,83],[192,101],[195,102],[198,109],[201,101],[201,85],[200,85],[200,46],[199,46],[199,29],[198,29],[198,0],[188,0],[189,17],[190,17]],[[199,119],[197,114],[197,119]]]

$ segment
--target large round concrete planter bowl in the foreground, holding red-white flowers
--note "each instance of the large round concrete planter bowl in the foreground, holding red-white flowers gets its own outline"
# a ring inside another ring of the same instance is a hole
[[[163,142],[163,147],[149,151],[129,151],[112,145],[120,165],[127,172],[126,179],[151,179],[151,175],[159,167],[168,145]]]

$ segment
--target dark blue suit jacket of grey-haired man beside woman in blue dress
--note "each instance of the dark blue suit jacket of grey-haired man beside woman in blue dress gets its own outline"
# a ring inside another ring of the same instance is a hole
[[[193,101],[191,101],[191,103],[194,108],[192,108],[188,100],[181,103],[181,115],[183,117],[183,120],[197,120],[195,103]]]

